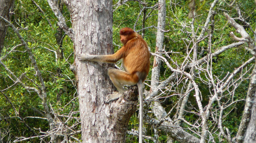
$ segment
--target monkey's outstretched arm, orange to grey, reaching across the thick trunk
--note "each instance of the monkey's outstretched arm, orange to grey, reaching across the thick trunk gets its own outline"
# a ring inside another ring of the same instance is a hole
[[[80,61],[116,63],[118,60],[123,58],[123,50],[121,48],[116,53],[109,54],[109,55],[92,55],[88,53],[77,53],[76,56]]]

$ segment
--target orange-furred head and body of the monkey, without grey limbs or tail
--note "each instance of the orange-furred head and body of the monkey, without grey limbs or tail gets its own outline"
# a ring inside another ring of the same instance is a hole
[[[131,28],[125,27],[120,30],[120,39],[123,39],[123,46],[116,53],[108,57],[110,59],[123,59],[124,70],[131,74],[127,76],[120,73],[119,78],[124,78],[127,81],[134,81],[135,84],[145,80],[148,71],[150,70],[150,52],[147,48],[147,43],[142,37],[134,32]]]

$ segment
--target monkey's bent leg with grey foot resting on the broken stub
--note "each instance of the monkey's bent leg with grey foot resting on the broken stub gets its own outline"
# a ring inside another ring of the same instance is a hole
[[[125,92],[125,89],[123,88],[123,84],[135,85],[138,81],[137,75],[133,75],[125,71],[114,69],[114,68],[108,69],[108,75],[110,76],[111,81],[117,88],[118,93],[108,95],[108,97],[106,97],[106,101],[105,101],[106,103],[117,100],[123,95],[123,93]]]

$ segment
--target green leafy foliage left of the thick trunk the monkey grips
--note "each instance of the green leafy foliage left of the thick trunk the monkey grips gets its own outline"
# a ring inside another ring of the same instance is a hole
[[[56,59],[55,53],[53,52],[63,52],[63,56],[67,58],[73,52],[73,43],[68,36],[65,36],[61,47],[58,46],[55,38],[55,34],[57,33],[55,15],[51,11],[47,1],[36,1],[36,3],[45,11],[46,15],[43,15],[32,1],[16,1],[14,7],[15,14],[13,14],[11,21],[15,27],[19,29],[20,35],[33,52],[37,66],[44,78],[48,102],[51,103],[52,108],[54,110],[63,108],[61,114],[69,113],[71,110],[78,110],[78,102],[76,100],[70,102],[76,92],[73,86],[75,82],[74,74],[69,70],[69,63],[73,63],[73,56],[67,59],[67,61],[61,58],[61,56]],[[63,11],[63,13],[67,14],[66,16],[69,15],[66,8],[64,8]],[[51,19],[52,27],[49,25],[46,18]],[[69,19],[69,17],[67,17],[67,19]],[[11,28],[8,28],[2,55],[7,54],[19,43],[20,41],[16,34]],[[24,46],[18,46],[15,50],[10,52],[7,58],[2,62],[18,78],[22,79],[22,82],[28,87],[34,87],[37,90],[37,86],[41,87]],[[47,120],[29,118],[45,118],[39,113],[40,111],[44,111],[41,99],[36,93],[26,90],[22,85],[14,84],[11,78],[15,80],[3,66],[0,66],[0,90],[7,89],[4,91],[4,94],[13,104],[13,106],[11,106],[10,102],[0,94],[0,129],[1,132],[5,130],[6,133],[8,133],[2,141],[11,142],[15,137],[35,136],[39,134],[40,130],[48,131],[49,123]],[[58,95],[60,95],[60,97],[57,97]],[[60,103],[56,103],[57,98],[60,98],[58,99]],[[19,115],[16,114],[13,107]],[[72,124],[72,122],[74,121],[71,120],[68,124]],[[8,137],[9,135],[10,138]],[[46,141],[47,140],[46,138]],[[29,141],[38,142],[39,140],[38,138],[33,138]]]

